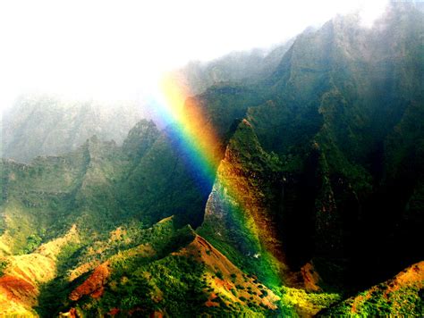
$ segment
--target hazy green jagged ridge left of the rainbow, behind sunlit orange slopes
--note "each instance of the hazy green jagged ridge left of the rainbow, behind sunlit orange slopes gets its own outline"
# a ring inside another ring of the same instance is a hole
[[[54,238],[72,224],[88,236],[131,218],[152,225],[173,214],[198,226],[208,188],[199,187],[175,142],[142,120],[123,146],[92,137],[67,155],[3,160],[0,250],[30,252],[31,239]]]

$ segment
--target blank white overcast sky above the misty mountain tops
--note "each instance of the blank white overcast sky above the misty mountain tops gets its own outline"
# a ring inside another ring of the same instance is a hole
[[[190,60],[267,47],[386,0],[0,1],[0,108],[22,93],[133,99]]]

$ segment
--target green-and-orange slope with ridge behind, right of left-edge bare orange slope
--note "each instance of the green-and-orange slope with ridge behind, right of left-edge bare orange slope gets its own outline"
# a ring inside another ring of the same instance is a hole
[[[176,229],[173,218],[145,230],[114,230],[77,255],[77,263],[42,289],[38,314],[262,316],[277,308],[271,290],[189,227]],[[60,301],[52,303],[54,297]]]

